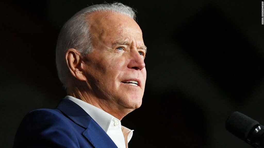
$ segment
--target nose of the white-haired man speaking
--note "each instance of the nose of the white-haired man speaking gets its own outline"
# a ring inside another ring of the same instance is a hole
[[[132,51],[130,55],[128,68],[142,70],[145,67],[144,57],[137,50]]]

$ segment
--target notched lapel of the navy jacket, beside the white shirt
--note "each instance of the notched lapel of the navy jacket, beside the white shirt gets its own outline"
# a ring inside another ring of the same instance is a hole
[[[79,105],[68,99],[62,99],[57,107],[74,123],[86,129],[82,135],[95,148],[117,148],[106,132]]]

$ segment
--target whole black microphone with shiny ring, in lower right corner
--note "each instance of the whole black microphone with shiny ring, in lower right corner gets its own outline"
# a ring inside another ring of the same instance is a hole
[[[264,148],[264,127],[258,121],[236,111],[228,117],[225,128],[251,146]]]

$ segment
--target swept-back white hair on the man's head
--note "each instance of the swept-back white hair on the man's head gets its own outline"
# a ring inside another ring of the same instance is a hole
[[[135,10],[121,3],[97,4],[86,7],[74,14],[62,27],[56,46],[56,66],[58,76],[64,88],[70,77],[65,61],[65,52],[69,48],[78,50],[82,55],[93,52],[92,36],[89,33],[90,24],[87,16],[92,12],[112,12],[127,15],[135,20]]]

